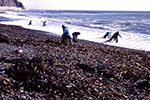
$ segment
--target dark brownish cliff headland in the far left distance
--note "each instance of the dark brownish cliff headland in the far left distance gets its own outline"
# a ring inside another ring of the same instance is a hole
[[[18,0],[0,0],[1,7],[17,7],[25,9],[24,5]]]

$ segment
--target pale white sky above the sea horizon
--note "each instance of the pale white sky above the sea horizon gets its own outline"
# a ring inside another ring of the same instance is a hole
[[[150,0],[18,0],[26,9],[150,11]]]

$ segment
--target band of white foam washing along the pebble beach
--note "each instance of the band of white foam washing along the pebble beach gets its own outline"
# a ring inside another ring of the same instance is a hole
[[[36,16],[18,16],[16,14],[0,14],[0,16],[5,16],[8,18],[18,18],[22,20],[18,21],[7,21],[7,22],[1,22],[3,24],[7,25],[19,25],[25,28],[29,29],[35,29],[35,30],[42,30],[42,31],[47,31],[47,32],[52,32],[57,35],[62,35],[62,24],[63,21],[57,22],[59,19],[49,19],[49,18],[42,18],[42,17],[36,17]],[[32,25],[28,25],[29,21],[32,20]],[[47,21],[47,26],[43,27],[43,21]],[[109,31],[109,30],[100,30],[96,28],[88,28],[88,27],[81,27],[81,26],[75,26],[75,25],[66,25],[69,28],[70,33],[73,32],[80,32],[81,35],[79,35],[79,39],[84,39],[84,40],[89,40],[89,41],[94,41],[98,43],[104,43],[108,39],[102,38],[104,34]],[[111,29],[111,32],[114,33],[119,30],[116,26],[114,29]],[[113,46],[119,46],[119,47],[125,47],[125,48],[131,48],[131,49],[138,49],[138,50],[145,50],[145,51],[150,51],[150,35],[148,34],[139,34],[139,33],[127,33],[127,32],[122,32],[120,31],[120,35],[122,38],[119,37],[119,42],[110,42],[110,43],[105,43],[108,45],[113,45]]]

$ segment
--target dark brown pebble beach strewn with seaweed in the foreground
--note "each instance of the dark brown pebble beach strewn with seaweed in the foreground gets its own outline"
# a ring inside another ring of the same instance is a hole
[[[0,24],[0,84],[2,100],[148,100],[150,52]]]

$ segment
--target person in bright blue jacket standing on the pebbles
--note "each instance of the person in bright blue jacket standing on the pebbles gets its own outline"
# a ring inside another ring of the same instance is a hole
[[[66,41],[69,40],[70,44],[72,44],[68,28],[65,25],[62,25],[62,29],[63,29],[63,34],[62,34],[61,42],[63,44],[66,44]]]

